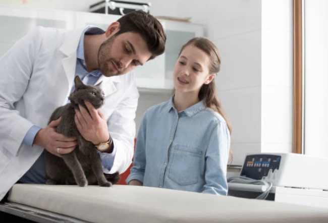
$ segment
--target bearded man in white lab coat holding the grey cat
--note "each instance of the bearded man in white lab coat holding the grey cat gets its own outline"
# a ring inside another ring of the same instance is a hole
[[[101,109],[80,107],[78,130],[97,147],[104,173],[123,173],[132,161],[139,97],[131,71],[163,53],[165,42],[161,24],[143,11],[106,31],[39,27],[20,39],[0,59],[0,200],[17,181],[45,183],[44,149],[58,156],[74,150],[76,139],[56,132],[61,118],[47,123],[67,103],[76,75],[101,82],[105,94]]]

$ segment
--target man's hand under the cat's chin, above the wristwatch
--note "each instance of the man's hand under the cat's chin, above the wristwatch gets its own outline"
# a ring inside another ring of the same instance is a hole
[[[79,105],[80,110],[75,109],[75,124],[84,139],[98,145],[110,138],[107,122],[101,110],[97,110],[89,101],[84,101],[88,111]]]

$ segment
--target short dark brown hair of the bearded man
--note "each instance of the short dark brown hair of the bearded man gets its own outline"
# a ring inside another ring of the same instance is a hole
[[[125,32],[140,34],[152,54],[149,60],[164,52],[166,33],[160,22],[152,15],[142,10],[133,11],[122,16],[118,22],[120,23],[120,30],[116,35]]]

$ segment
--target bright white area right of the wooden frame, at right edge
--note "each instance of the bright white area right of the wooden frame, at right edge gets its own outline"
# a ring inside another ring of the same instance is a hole
[[[305,142],[308,155],[328,157],[328,1],[305,1]]]

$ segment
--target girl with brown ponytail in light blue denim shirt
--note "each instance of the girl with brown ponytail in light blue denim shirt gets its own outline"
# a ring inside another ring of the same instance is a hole
[[[128,185],[227,195],[231,128],[215,89],[220,64],[207,38],[182,47],[174,94],[143,116]]]

